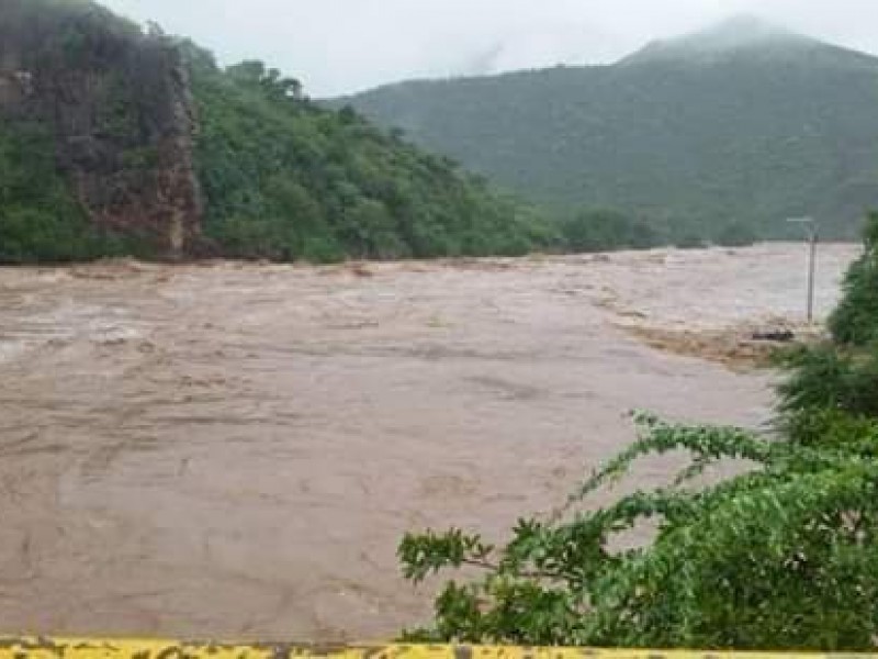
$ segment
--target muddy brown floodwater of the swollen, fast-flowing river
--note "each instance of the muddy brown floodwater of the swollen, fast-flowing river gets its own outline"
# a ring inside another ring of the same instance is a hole
[[[856,254],[822,248],[821,311]],[[391,637],[429,611],[405,530],[502,537],[632,407],[764,423],[772,373],[618,325],[800,322],[804,257],[0,269],[2,630]]]

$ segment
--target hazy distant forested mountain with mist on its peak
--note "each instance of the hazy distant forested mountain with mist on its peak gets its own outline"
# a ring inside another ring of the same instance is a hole
[[[878,203],[878,59],[739,18],[617,64],[413,81],[333,101],[531,199],[716,236]]]

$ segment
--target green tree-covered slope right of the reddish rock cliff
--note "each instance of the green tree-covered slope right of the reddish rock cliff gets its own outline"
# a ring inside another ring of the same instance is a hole
[[[547,245],[537,214],[447,158],[330,112],[259,62],[225,71],[192,49],[204,230],[225,254],[335,260],[520,255]]]

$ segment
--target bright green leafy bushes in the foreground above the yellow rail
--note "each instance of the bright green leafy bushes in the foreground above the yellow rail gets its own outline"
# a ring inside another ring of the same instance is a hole
[[[787,355],[775,432],[635,417],[640,437],[553,515],[488,544],[452,529],[407,535],[406,578],[449,582],[432,625],[407,637],[624,647],[874,650],[878,641],[878,216],[833,316],[834,343]],[[853,321],[852,321],[853,319]],[[852,328],[856,330],[852,333]],[[588,507],[640,457],[685,450],[666,487]],[[709,487],[723,458],[748,472]],[[646,521],[645,546],[614,539]]]

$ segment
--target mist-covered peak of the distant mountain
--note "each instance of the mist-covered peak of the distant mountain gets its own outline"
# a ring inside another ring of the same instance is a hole
[[[755,14],[738,14],[703,30],[655,41],[624,58],[623,63],[686,59],[703,60],[778,47],[814,46],[820,42]]]

